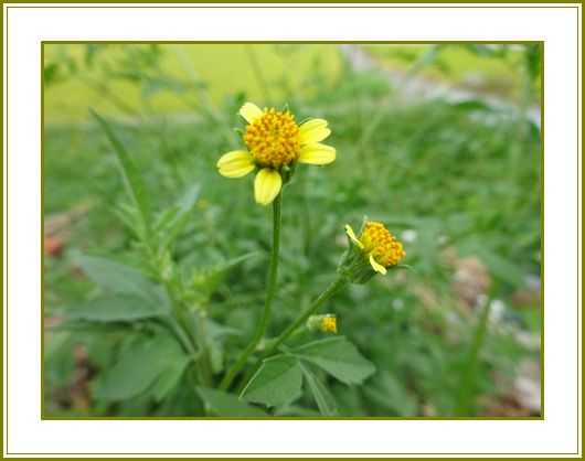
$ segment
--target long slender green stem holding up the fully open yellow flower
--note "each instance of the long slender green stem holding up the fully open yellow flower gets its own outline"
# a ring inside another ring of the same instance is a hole
[[[268,269],[268,283],[266,286],[266,299],[264,302],[264,312],[260,321],[254,333],[254,337],[251,343],[247,345],[245,351],[242,353],[237,362],[228,369],[225,374],[222,383],[220,384],[221,389],[227,389],[232,384],[234,377],[246,364],[249,355],[256,350],[258,343],[262,341],[266,328],[268,326],[268,321],[270,319],[270,305],[273,299],[276,294],[276,279],[278,275],[278,251],[280,248],[280,208],[281,208],[283,193],[280,192],[278,196],[273,202],[273,249],[270,253],[270,267]]]

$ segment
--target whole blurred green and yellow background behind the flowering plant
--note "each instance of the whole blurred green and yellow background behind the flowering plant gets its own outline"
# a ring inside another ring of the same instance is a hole
[[[341,414],[540,416],[540,66],[536,44],[45,44],[45,415],[188,412],[99,401],[93,386],[123,333],[60,328],[94,290],[75,255],[132,261],[123,182],[89,108],[116,124],[160,208],[201,187],[181,264],[263,255],[209,293],[236,350],[264,297],[270,210],[254,204],[252,178],[221,178],[215,162],[238,144],[251,100],[326,118],[338,151],[287,189],[272,333],[334,277],[343,225],[364,214],[402,239],[413,268],[325,309],[377,368],[361,387],[331,383]],[[297,407],[286,416],[316,415]]]

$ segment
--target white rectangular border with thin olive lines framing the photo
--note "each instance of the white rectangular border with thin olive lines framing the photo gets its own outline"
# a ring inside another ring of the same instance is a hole
[[[181,9],[136,4],[127,9],[100,6],[98,10],[87,9],[86,4],[83,9],[67,7],[71,8],[3,6],[4,21],[7,12],[10,21],[3,41],[4,69],[7,57],[10,60],[9,72],[4,73],[4,95],[8,94],[10,106],[4,98],[3,108],[4,376],[10,372],[8,383],[4,380],[4,403],[9,404],[3,415],[4,454],[581,454],[581,279],[574,277],[573,270],[576,266],[578,275],[581,269],[581,119],[576,116],[581,114],[579,4],[507,4],[489,9],[457,4],[449,10],[436,4],[373,4],[368,9],[363,4],[352,9],[349,4],[305,4],[286,10],[286,14],[281,4],[262,4],[257,9],[244,9],[242,4],[237,9],[217,4],[208,6],[214,7],[209,9],[185,4],[180,4]],[[41,266],[40,42],[96,39],[544,40],[545,419],[41,421],[41,280],[36,269]]]

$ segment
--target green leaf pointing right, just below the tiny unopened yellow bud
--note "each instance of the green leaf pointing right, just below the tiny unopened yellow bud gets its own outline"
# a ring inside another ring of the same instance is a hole
[[[348,385],[361,384],[375,372],[372,362],[343,336],[315,341],[296,349],[294,353]]]

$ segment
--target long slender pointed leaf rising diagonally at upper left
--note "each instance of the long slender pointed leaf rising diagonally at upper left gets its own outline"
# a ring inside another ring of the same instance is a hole
[[[149,223],[151,221],[150,202],[148,200],[148,191],[146,184],[142,181],[142,176],[140,175],[138,168],[136,167],[132,158],[130,157],[121,141],[114,133],[114,130],[111,129],[109,124],[94,110],[91,110],[91,112],[106,133],[107,138],[109,139],[109,142],[111,142],[111,146],[116,151],[116,158],[118,159],[118,164],[120,167],[126,190],[136,207],[140,211],[142,224],[146,227],[149,227]]]

